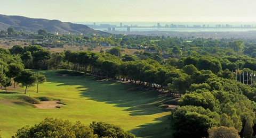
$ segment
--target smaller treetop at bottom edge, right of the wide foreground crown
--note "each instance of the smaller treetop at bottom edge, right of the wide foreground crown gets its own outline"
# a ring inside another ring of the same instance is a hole
[[[90,124],[90,128],[92,128],[94,134],[98,134],[98,137],[135,137],[135,135],[133,135],[132,133],[125,132],[119,126],[104,122],[92,122]]]

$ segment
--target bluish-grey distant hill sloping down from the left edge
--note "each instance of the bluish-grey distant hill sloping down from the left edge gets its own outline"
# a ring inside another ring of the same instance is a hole
[[[98,30],[93,30],[87,25],[75,24],[70,22],[61,22],[59,20],[34,19],[24,16],[8,16],[0,14],[0,30],[7,30],[13,27],[15,30],[23,30],[25,32],[38,32],[39,29],[45,29],[48,32],[59,33],[84,33],[97,35],[107,34]]]

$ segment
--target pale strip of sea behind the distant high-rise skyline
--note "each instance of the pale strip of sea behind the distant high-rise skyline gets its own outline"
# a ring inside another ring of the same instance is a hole
[[[256,31],[256,22],[74,22],[89,25],[89,27],[107,31],[108,24],[115,31],[125,32],[127,27],[130,31],[180,31],[180,32],[236,32],[236,31]],[[93,25],[95,23],[95,25]],[[120,27],[122,23],[123,27]],[[161,27],[158,27],[158,26]],[[169,27],[165,27],[169,25]],[[183,25],[183,27],[171,27],[171,25]]]

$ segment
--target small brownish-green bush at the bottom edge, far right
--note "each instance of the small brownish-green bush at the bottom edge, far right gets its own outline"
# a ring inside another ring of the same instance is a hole
[[[209,138],[239,138],[237,130],[234,127],[212,127],[208,130]]]

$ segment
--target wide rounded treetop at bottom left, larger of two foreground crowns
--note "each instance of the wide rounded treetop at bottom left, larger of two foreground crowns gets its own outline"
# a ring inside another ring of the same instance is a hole
[[[25,126],[20,128],[12,137],[97,137],[93,134],[93,130],[76,122],[75,124],[69,120],[62,120],[58,118],[45,118],[39,124],[34,126]]]

